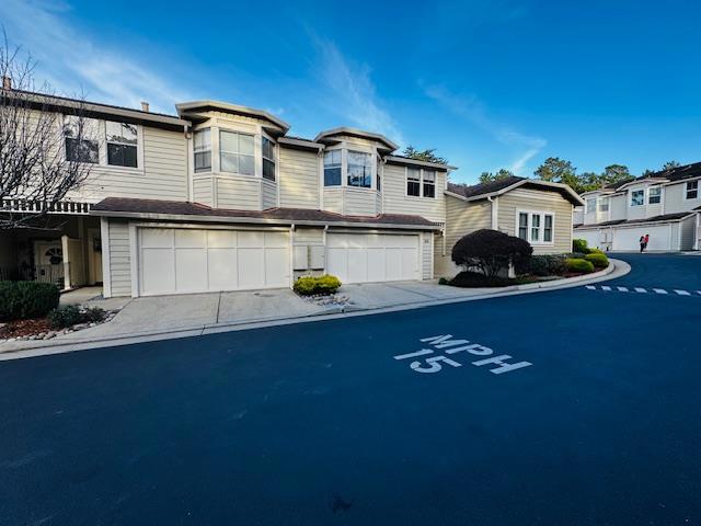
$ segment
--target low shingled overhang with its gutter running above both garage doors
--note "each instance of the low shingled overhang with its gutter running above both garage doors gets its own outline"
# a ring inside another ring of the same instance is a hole
[[[199,203],[160,199],[107,197],[93,205],[90,214],[105,217],[133,217],[200,222],[258,224],[258,225],[333,225],[366,228],[402,228],[438,230],[439,226],[422,216],[380,214],[378,216],[342,216],[325,210],[307,208],[268,208],[235,210],[211,208]]]

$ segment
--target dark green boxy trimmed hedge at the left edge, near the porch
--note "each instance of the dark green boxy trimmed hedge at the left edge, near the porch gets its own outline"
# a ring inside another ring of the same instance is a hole
[[[58,306],[53,283],[0,282],[0,321],[42,318]]]

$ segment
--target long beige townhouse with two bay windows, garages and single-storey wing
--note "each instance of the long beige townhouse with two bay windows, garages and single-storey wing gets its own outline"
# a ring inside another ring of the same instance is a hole
[[[56,98],[53,107],[76,104]],[[322,273],[428,279],[455,273],[452,244],[478,228],[526,236],[536,252],[570,250],[582,202],[564,185],[447,191],[451,167],[399,156],[378,134],[342,127],[304,139],[260,110],[176,108],[89,104],[90,180],[51,210],[54,229],[0,235],[0,274],[148,296],[289,287]]]

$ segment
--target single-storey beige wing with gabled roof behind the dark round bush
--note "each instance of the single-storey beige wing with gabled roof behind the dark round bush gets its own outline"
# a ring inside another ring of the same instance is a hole
[[[525,239],[535,254],[572,251],[572,217],[582,198],[567,185],[508,178],[472,186],[448,184],[445,236],[437,238],[436,270],[452,275],[459,268],[450,252],[466,233],[490,228]]]

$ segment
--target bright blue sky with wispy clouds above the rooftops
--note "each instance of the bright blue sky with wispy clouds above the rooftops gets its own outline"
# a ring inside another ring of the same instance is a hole
[[[0,2],[66,94],[166,113],[221,100],[304,137],[360,127],[436,148],[464,182],[550,156],[633,173],[701,160],[700,20],[678,0]]]

